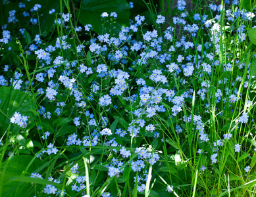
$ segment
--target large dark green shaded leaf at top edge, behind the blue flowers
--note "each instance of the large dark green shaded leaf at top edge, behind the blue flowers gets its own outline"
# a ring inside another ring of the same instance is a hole
[[[101,17],[103,12],[116,12],[117,18]],[[78,17],[79,11],[76,12]],[[79,14],[79,22],[84,26],[91,24],[99,34],[120,32],[122,26],[129,25],[130,6],[125,0],[83,0]],[[104,24],[104,25],[103,25]]]

